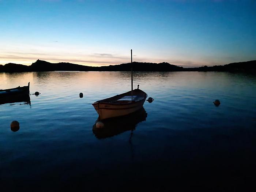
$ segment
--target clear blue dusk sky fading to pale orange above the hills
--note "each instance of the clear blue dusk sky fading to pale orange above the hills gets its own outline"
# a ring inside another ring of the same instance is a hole
[[[0,64],[256,60],[255,0],[0,0]]]

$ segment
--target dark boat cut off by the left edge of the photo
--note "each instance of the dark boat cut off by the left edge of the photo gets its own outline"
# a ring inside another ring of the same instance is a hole
[[[30,101],[28,86],[0,90],[0,104]]]

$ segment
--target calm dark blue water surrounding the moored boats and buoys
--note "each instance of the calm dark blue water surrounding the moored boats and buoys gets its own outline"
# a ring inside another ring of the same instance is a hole
[[[95,131],[91,103],[129,91],[129,72],[0,73],[0,89],[30,82],[30,92],[41,93],[30,105],[0,105],[1,188],[256,190],[256,75],[138,72],[134,79],[155,101]]]

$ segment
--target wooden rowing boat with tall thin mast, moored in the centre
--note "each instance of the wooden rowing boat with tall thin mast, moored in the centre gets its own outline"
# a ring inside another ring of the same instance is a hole
[[[131,50],[131,64],[132,64],[132,50]],[[97,111],[99,120],[124,116],[133,113],[143,107],[147,98],[147,94],[139,89],[133,90],[133,76],[131,68],[131,91],[123,94],[115,95],[106,99],[94,102],[92,105]]]

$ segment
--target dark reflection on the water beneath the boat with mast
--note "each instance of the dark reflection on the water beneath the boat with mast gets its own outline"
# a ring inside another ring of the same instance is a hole
[[[109,118],[102,120],[103,128],[96,128],[96,123],[93,125],[93,133],[98,139],[112,137],[125,131],[135,130],[138,123],[146,121],[147,113],[144,108],[128,114],[126,116]]]

